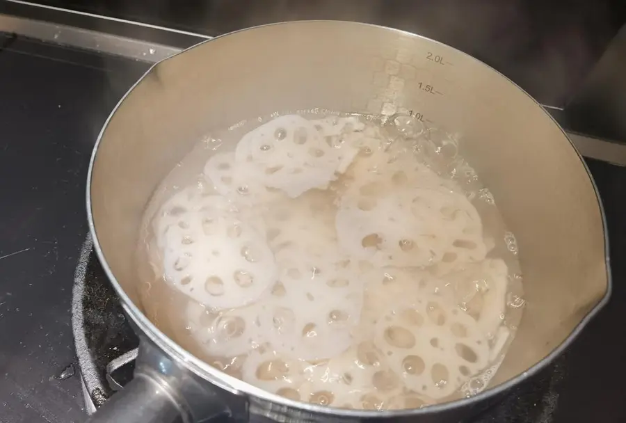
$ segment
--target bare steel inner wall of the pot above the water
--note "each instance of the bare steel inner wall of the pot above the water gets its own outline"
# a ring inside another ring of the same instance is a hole
[[[442,56],[448,65],[429,61]],[[424,91],[435,87],[440,94]],[[580,157],[511,81],[437,42],[344,22],[264,26],[170,58],[106,125],[90,186],[97,241],[139,306],[138,228],[157,184],[212,128],[275,111],[419,110],[461,149],[517,237],[527,309],[497,382],[559,346],[607,291],[600,205]],[[115,281],[113,281],[115,283]]]

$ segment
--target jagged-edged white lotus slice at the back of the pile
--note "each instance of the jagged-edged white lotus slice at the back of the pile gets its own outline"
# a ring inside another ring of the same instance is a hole
[[[353,149],[328,145],[321,131],[305,118],[285,115],[253,129],[237,144],[235,158],[259,170],[259,180],[289,197],[326,189],[335,172],[346,168]]]

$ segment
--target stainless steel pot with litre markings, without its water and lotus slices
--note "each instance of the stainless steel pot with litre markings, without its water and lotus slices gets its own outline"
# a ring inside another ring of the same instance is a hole
[[[492,387],[401,411],[339,410],[259,390],[191,356],[138,302],[134,250],[157,184],[207,131],[274,111],[412,113],[463,137],[460,149],[517,236],[527,308]],[[453,422],[558,356],[607,303],[607,234],[593,180],[529,95],[456,49],[394,29],[291,22],[246,29],[154,65],[107,120],[91,161],[95,249],[141,338],[134,380],[95,422],[370,420]]]

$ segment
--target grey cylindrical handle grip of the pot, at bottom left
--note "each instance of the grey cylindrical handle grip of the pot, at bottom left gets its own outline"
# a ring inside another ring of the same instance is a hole
[[[135,374],[86,423],[174,423],[182,415],[183,410],[163,385],[145,374]]]

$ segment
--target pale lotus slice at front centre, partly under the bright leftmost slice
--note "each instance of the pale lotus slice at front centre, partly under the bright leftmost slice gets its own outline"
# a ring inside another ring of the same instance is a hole
[[[342,353],[353,343],[362,309],[362,284],[349,262],[283,255],[280,289],[260,318],[273,349],[303,360]]]

